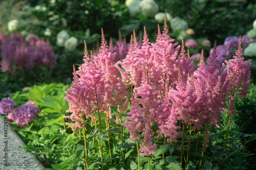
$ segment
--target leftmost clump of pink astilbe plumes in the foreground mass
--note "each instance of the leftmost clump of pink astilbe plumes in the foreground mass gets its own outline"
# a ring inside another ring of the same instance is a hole
[[[75,125],[69,125],[74,132],[84,127],[82,124],[83,115],[86,118],[93,117],[95,109],[100,113],[110,112],[110,106],[124,105],[125,96],[127,95],[126,86],[122,83],[119,72],[114,66],[115,53],[112,54],[106,45],[103,30],[98,56],[89,57],[87,46],[84,47],[84,63],[75,71],[74,81],[70,89],[66,91],[69,102],[70,116],[64,116],[75,121]],[[92,53],[91,53],[92,54]],[[112,93],[115,91],[115,94]],[[126,99],[126,98],[125,98]],[[111,113],[109,118],[111,118]]]

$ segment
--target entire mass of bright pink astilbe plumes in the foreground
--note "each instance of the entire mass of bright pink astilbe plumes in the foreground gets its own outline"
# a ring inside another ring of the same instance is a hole
[[[202,51],[200,67],[195,70],[183,41],[182,46],[173,43],[174,39],[167,33],[166,19],[163,32],[158,26],[155,43],[149,42],[144,28],[140,46],[134,32],[126,58],[117,63],[113,62],[116,54],[106,48],[102,33],[100,54],[89,58],[86,49],[84,64],[78,71],[74,70],[73,85],[66,91],[70,105],[67,112],[72,114],[65,117],[76,122],[76,125],[67,125],[76,132],[84,126],[82,115],[95,118],[95,111],[109,112],[109,106],[118,107],[120,112],[119,106],[123,106],[124,111],[128,88],[132,92],[131,109],[125,119],[130,121],[121,125],[130,131],[132,140],[139,140],[139,134],[143,136],[140,154],[148,156],[157,148],[152,141],[155,124],[158,137],[172,142],[180,134],[177,131],[181,128],[177,126],[179,120],[200,129],[205,122],[218,127],[224,109],[233,114],[234,92],[246,97],[250,79],[251,63],[241,57],[241,40],[237,56],[225,61],[228,68],[217,61],[215,44],[209,64],[204,63]],[[242,76],[238,72],[242,72]]]

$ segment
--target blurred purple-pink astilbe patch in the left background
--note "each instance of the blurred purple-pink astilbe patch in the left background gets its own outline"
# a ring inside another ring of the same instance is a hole
[[[54,66],[57,56],[54,54],[49,41],[44,41],[31,35],[29,41],[20,34],[10,37],[0,35],[0,51],[2,72],[11,71],[15,74],[16,67],[20,70],[33,69],[36,64]]]

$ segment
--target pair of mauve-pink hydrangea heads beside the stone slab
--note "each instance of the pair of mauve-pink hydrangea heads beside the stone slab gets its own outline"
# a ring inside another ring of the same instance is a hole
[[[15,105],[14,101],[10,98],[2,99],[0,102],[0,113],[4,114],[7,112],[9,121],[11,123],[14,121],[19,127],[29,125],[29,122],[33,122],[33,118],[36,119],[36,116],[40,112],[38,106],[35,106],[32,101],[14,110]]]

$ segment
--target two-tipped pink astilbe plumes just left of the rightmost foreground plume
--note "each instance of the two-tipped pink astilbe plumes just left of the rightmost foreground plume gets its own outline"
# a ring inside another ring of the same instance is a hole
[[[197,95],[203,101],[200,122],[203,124],[205,121],[210,121],[209,125],[219,126],[221,111],[226,108],[226,90],[229,81],[226,81],[226,67],[220,67],[216,60],[216,43],[209,64],[206,65],[201,60],[199,69],[194,72],[194,84]]]

